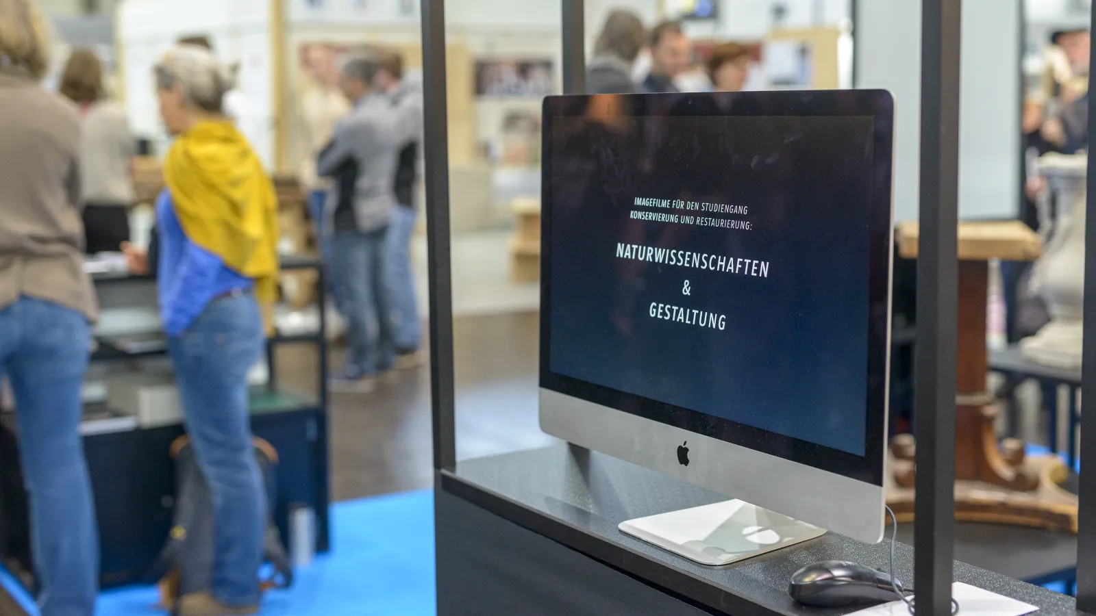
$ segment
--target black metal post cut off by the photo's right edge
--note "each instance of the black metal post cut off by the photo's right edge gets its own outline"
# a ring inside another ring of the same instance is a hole
[[[1092,8],[1092,24],[1096,25],[1096,3]],[[1096,48],[1092,52],[1096,58]],[[1088,98],[1088,113],[1096,111],[1096,100]],[[1091,116],[1092,117],[1092,116]],[[1088,123],[1088,142],[1096,140],[1096,128]],[[1096,174],[1088,166],[1088,195],[1085,207],[1092,209],[1096,194]],[[1082,341],[1081,390],[1089,398],[1096,397],[1096,224],[1085,228],[1085,315]],[[1081,415],[1081,460],[1085,469],[1096,464],[1096,412]],[[1085,437],[1087,435],[1087,438]],[[1082,476],[1077,511],[1077,609],[1096,614],[1096,481]]]

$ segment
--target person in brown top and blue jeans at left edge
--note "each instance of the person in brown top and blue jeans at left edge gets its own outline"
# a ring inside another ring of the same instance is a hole
[[[45,21],[0,0],[0,380],[19,456],[43,616],[91,616],[99,529],[80,440],[95,293],[83,271],[80,118],[44,90]]]

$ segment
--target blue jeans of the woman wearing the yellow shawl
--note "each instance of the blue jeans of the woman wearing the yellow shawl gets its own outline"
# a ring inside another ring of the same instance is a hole
[[[230,606],[259,603],[266,532],[266,494],[248,413],[248,369],[264,344],[252,294],[215,299],[168,352],[183,404],[183,423],[213,494],[216,551],[209,591]]]

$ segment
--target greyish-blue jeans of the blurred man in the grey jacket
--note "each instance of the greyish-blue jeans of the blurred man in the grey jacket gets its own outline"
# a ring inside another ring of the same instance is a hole
[[[344,372],[370,376],[391,367],[396,351],[386,285],[387,229],[344,231],[331,240],[340,311],[350,326]]]

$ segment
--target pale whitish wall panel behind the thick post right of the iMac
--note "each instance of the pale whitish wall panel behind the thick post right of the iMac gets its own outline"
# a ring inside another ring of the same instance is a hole
[[[959,215],[1013,218],[1019,198],[1019,0],[963,2]],[[894,217],[917,218],[921,0],[865,1],[856,20],[858,88],[895,99]]]

